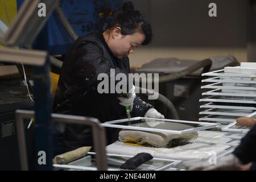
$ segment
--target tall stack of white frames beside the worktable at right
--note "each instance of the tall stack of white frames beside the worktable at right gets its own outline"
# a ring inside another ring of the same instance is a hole
[[[208,76],[202,80],[208,84],[201,86],[199,121],[226,125],[256,111],[256,63],[241,63],[202,76]]]

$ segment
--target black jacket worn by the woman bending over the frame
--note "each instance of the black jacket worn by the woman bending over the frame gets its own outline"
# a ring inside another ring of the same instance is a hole
[[[110,75],[110,69],[117,73],[130,72],[129,58],[114,57],[102,34],[92,34],[77,39],[65,56],[53,102],[53,112],[98,118],[100,122],[127,118],[125,108],[119,105],[116,93],[97,92],[100,73]],[[152,106],[136,97],[131,117],[141,116]],[[113,136],[108,131],[108,143]],[[59,135],[61,152],[80,146],[92,145],[87,127],[66,125],[64,134]],[[116,137],[115,137],[116,139]]]

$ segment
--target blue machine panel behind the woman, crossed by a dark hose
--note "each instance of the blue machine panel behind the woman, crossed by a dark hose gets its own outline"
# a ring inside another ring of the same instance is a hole
[[[17,0],[18,9],[23,1]],[[123,0],[60,1],[61,9],[78,36],[84,36],[96,30],[104,30],[106,20],[111,19],[113,13],[121,9],[122,4]],[[49,55],[65,55],[73,41],[60,23],[56,13],[49,17],[46,26],[47,28],[43,28],[43,34],[47,34],[48,38],[46,51],[49,52]],[[43,41],[39,36],[34,43],[34,47],[37,48],[40,48]]]

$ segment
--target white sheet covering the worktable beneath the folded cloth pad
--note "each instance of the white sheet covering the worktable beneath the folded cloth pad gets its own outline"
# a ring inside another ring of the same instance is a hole
[[[198,131],[199,137],[191,143],[174,148],[152,148],[142,146],[131,146],[117,141],[106,147],[110,154],[136,155],[140,152],[147,152],[154,158],[193,160],[208,159],[213,152],[220,154],[229,148],[225,142],[229,139],[224,137],[225,133],[217,131]]]

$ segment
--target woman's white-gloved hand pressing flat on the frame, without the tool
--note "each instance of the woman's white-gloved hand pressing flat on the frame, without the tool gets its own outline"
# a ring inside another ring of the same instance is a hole
[[[144,115],[145,118],[157,118],[157,119],[164,119],[164,115],[159,113],[156,109],[151,108],[148,109],[146,114]],[[157,121],[154,119],[142,119],[144,122],[147,123],[148,126],[154,127],[156,125],[159,125],[160,123],[163,123],[164,121]]]

